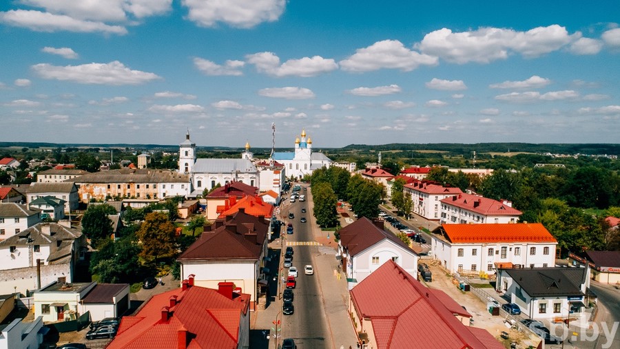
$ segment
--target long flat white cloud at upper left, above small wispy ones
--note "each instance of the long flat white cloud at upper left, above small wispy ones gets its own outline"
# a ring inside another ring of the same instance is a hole
[[[39,63],[32,66],[43,79],[71,81],[74,83],[92,83],[97,85],[139,85],[161,79],[152,72],[130,70],[119,61],[110,63],[88,63],[81,66],[52,66]]]

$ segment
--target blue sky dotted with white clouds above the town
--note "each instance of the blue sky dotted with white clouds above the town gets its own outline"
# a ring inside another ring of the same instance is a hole
[[[617,1],[422,2],[0,1],[0,140],[618,143]]]

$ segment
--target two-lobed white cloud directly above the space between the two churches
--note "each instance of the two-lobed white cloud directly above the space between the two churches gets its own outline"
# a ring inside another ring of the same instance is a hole
[[[333,59],[324,59],[320,56],[289,59],[280,65],[280,57],[273,52],[258,52],[248,54],[247,62],[254,64],[256,70],[273,77],[314,77],[324,72],[338,69]]]

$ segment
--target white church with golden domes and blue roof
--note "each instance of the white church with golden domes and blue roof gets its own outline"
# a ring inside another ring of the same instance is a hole
[[[312,139],[306,130],[302,129],[300,135],[295,139],[294,152],[274,152],[273,160],[285,166],[287,177],[303,178],[311,175],[314,170],[322,167],[329,168],[331,159],[322,152],[312,152]]]

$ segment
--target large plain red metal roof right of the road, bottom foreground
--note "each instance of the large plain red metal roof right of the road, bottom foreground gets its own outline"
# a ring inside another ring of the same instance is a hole
[[[386,287],[394,297],[384,297]],[[373,324],[377,348],[502,348],[473,335],[442,299],[393,261],[351,290],[358,317]]]

